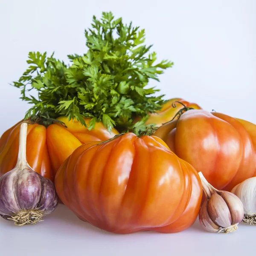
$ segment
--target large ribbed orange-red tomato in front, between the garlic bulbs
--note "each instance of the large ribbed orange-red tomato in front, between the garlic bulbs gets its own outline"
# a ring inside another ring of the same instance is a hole
[[[197,218],[196,170],[157,137],[126,133],[84,144],[55,177],[61,201],[81,220],[113,233],[173,233]]]

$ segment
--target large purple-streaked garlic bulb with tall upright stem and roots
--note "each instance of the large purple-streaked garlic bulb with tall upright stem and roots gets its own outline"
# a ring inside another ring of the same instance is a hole
[[[23,226],[42,221],[54,211],[58,195],[51,180],[35,172],[26,162],[27,123],[20,125],[17,164],[0,177],[0,215]]]

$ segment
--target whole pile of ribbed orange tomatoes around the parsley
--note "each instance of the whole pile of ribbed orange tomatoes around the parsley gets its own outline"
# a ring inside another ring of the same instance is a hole
[[[101,122],[89,131],[76,120],[59,120],[29,124],[28,163],[55,182],[81,220],[113,233],[190,227],[202,199],[198,172],[227,191],[256,176],[256,125],[183,99],[150,115],[152,135],[109,133]],[[0,138],[0,175],[16,164],[20,124]]]

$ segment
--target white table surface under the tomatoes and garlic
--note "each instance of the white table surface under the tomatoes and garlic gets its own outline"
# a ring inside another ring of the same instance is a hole
[[[116,235],[87,224],[64,205],[44,221],[17,227],[0,218],[1,256],[213,256],[255,255],[256,227],[239,224],[234,233],[208,233],[198,220],[173,234]]]

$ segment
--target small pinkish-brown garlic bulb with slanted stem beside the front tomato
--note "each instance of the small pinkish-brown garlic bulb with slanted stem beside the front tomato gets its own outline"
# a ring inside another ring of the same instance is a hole
[[[215,189],[201,172],[198,174],[206,195],[198,216],[201,226],[209,232],[230,233],[237,230],[244,216],[241,200],[230,192]]]

